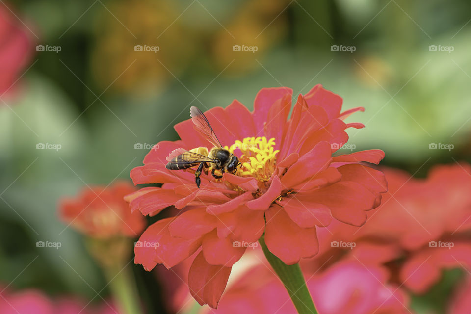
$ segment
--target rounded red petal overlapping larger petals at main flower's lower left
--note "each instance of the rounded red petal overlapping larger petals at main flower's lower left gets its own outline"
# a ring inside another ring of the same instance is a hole
[[[175,217],[168,230],[174,237],[194,239],[213,230],[216,222],[217,218],[209,215],[204,208],[190,209]]]

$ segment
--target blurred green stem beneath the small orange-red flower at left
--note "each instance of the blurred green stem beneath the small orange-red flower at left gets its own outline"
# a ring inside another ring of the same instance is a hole
[[[122,314],[142,314],[142,308],[139,304],[136,283],[130,270],[131,267],[121,269],[109,269],[107,279],[110,281],[110,289],[114,300]]]

